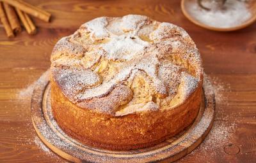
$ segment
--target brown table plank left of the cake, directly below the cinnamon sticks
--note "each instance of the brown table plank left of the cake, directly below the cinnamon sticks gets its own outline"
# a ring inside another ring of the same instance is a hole
[[[41,68],[50,66],[52,48],[63,36],[68,36],[75,30],[39,29],[35,36],[21,32],[13,40],[0,34],[0,69],[13,67]],[[15,50],[17,49],[17,50]],[[7,57],[8,56],[8,57]]]

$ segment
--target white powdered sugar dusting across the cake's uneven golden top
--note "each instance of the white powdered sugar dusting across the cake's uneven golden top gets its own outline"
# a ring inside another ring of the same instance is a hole
[[[84,40],[90,44],[84,44]],[[117,70],[105,65],[104,69],[115,74],[108,80],[100,74],[104,60],[120,63],[116,64]],[[170,64],[163,66],[166,63]],[[160,101],[174,97],[182,82],[186,99],[202,80],[200,54],[184,29],[141,15],[95,18],[72,36],[61,39],[52,52],[54,80],[63,94],[81,108],[102,108],[100,111],[112,113],[116,107],[129,103],[132,92],[127,83],[139,72],[146,74],[154,87],[152,96]],[[124,91],[121,101],[114,99],[120,96],[118,88]],[[100,100],[106,104],[100,105]],[[148,106],[159,109],[158,104],[152,103]]]

